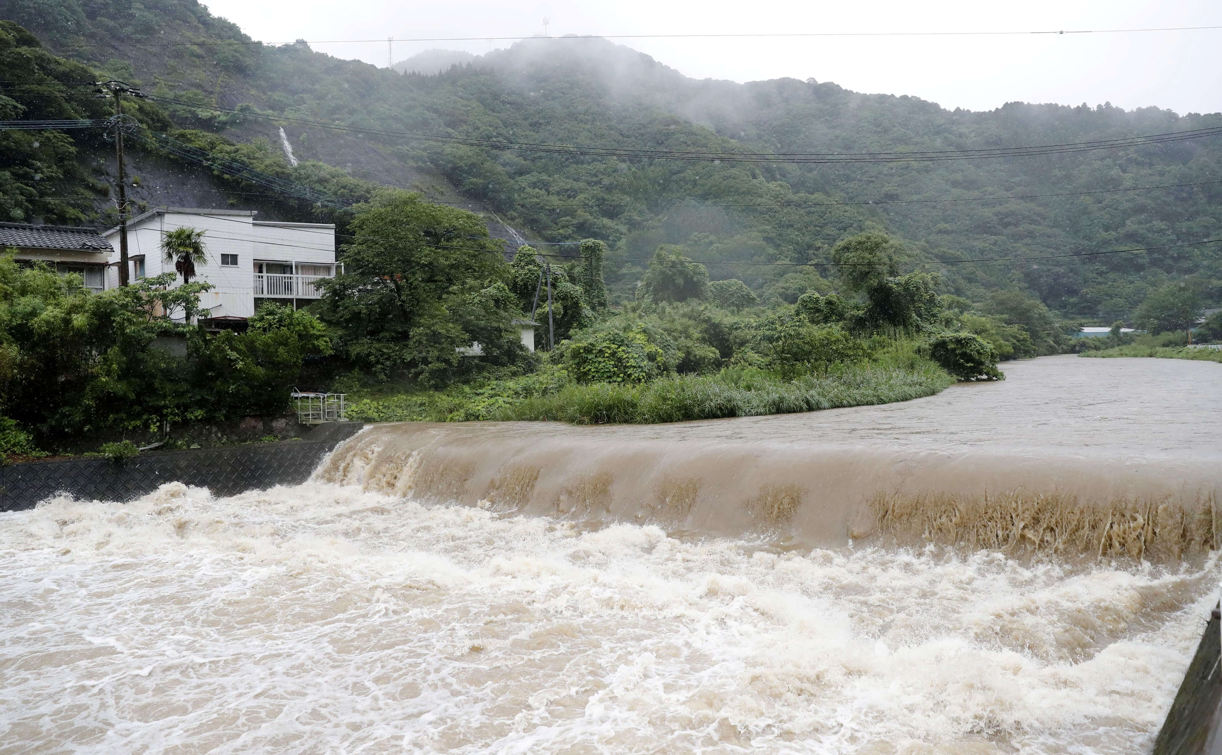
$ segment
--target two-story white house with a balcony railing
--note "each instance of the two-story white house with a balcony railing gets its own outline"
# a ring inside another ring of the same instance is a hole
[[[265,301],[302,307],[320,298],[314,285],[335,277],[335,225],[255,220],[252,210],[158,208],[127,224],[130,280],[174,272],[161,239],[175,228],[204,232],[208,261],[196,266],[194,281],[214,287],[199,297],[209,318],[244,319]],[[119,228],[104,232],[114,250],[106,288],[119,285]],[[182,279],[180,277],[181,282]]]

